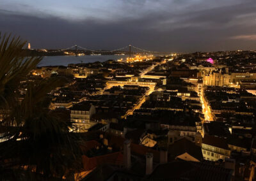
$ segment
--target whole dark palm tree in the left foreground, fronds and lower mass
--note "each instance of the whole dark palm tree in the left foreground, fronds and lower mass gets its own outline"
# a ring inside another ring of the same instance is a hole
[[[28,82],[24,98],[18,99],[20,82],[42,60],[24,57],[25,44],[0,34],[0,109],[6,113],[1,120],[6,141],[0,143],[0,171],[10,180],[72,177],[81,168],[80,140],[68,131],[70,122],[49,110],[47,96],[61,81]]]

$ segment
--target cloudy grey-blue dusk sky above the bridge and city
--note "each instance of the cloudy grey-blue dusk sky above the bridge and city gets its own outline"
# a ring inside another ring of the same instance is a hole
[[[0,0],[0,31],[31,48],[256,49],[256,0]]]

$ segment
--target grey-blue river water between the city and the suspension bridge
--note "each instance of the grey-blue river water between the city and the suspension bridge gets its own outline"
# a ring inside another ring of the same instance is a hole
[[[128,55],[84,55],[84,56],[47,56],[38,64],[42,66],[68,66],[68,64],[104,62],[108,60],[126,59]]]

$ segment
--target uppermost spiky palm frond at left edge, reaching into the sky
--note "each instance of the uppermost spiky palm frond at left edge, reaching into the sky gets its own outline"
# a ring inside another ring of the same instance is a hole
[[[26,41],[0,34],[0,106],[12,106],[19,83],[36,68],[42,57],[24,57]],[[6,105],[7,104],[7,105]]]

